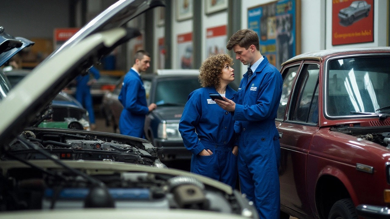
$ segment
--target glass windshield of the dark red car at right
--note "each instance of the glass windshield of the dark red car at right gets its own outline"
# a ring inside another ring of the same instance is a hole
[[[389,57],[333,60],[329,63],[328,105],[330,116],[353,112],[375,113],[390,106]],[[355,113],[356,114],[356,113]]]

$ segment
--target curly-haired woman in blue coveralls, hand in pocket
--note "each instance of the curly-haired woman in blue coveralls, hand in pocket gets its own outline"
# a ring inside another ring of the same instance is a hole
[[[233,188],[236,185],[238,147],[234,120],[209,96],[219,94],[236,101],[237,92],[229,87],[234,81],[232,58],[217,54],[207,58],[199,69],[202,88],[188,95],[179,123],[184,146],[192,152],[191,172],[214,178]]]

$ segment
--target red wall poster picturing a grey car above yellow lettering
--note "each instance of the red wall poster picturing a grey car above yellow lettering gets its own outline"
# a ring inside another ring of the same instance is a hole
[[[374,41],[374,0],[333,0],[332,45]]]

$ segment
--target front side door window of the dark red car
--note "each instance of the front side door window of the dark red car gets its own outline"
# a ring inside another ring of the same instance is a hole
[[[294,108],[290,120],[297,122],[318,122],[318,80],[319,65],[305,64],[298,78],[294,94]]]

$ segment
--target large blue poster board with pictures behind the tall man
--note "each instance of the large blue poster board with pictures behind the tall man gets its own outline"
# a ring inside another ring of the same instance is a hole
[[[278,69],[301,53],[300,9],[300,0],[279,0],[248,9],[248,28],[259,35],[261,55]]]

